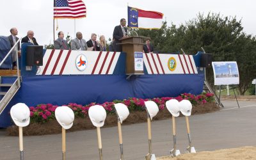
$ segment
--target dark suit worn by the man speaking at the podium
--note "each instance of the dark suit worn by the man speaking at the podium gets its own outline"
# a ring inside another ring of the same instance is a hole
[[[125,31],[125,36],[127,36],[127,28],[124,28]],[[124,33],[122,31],[121,25],[116,26],[113,32],[113,46],[114,46],[114,51],[116,52],[122,52],[122,45],[120,39],[123,38]],[[118,45],[119,44],[119,45]]]

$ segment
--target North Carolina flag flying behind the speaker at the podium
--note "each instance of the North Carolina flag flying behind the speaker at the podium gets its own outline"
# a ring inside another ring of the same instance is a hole
[[[162,19],[163,13],[128,6],[128,26],[131,28],[159,29]]]

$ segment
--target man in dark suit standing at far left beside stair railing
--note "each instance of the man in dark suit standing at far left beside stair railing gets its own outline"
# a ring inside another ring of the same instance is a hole
[[[14,44],[19,40],[17,37],[18,35],[18,30],[17,28],[12,28],[10,29],[11,35],[8,36],[8,39],[10,40],[11,47],[13,47]],[[20,43],[17,44],[17,50],[16,47],[12,51],[12,68],[17,69],[17,56],[16,56],[16,51],[18,51],[18,56],[21,56],[21,51],[20,51]]]

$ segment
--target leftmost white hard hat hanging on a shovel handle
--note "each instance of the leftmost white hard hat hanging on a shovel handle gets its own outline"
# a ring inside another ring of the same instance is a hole
[[[15,104],[14,106],[12,106],[10,113],[15,125],[19,127],[26,127],[29,125],[30,111],[26,104]]]

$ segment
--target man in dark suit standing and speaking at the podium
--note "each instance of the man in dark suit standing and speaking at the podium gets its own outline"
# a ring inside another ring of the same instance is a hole
[[[126,20],[121,19],[120,20],[120,25],[116,26],[113,32],[113,46],[114,46],[114,51],[116,52],[122,52],[122,45],[121,43],[121,38],[127,37],[127,28],[125,27],[126,25]]]

